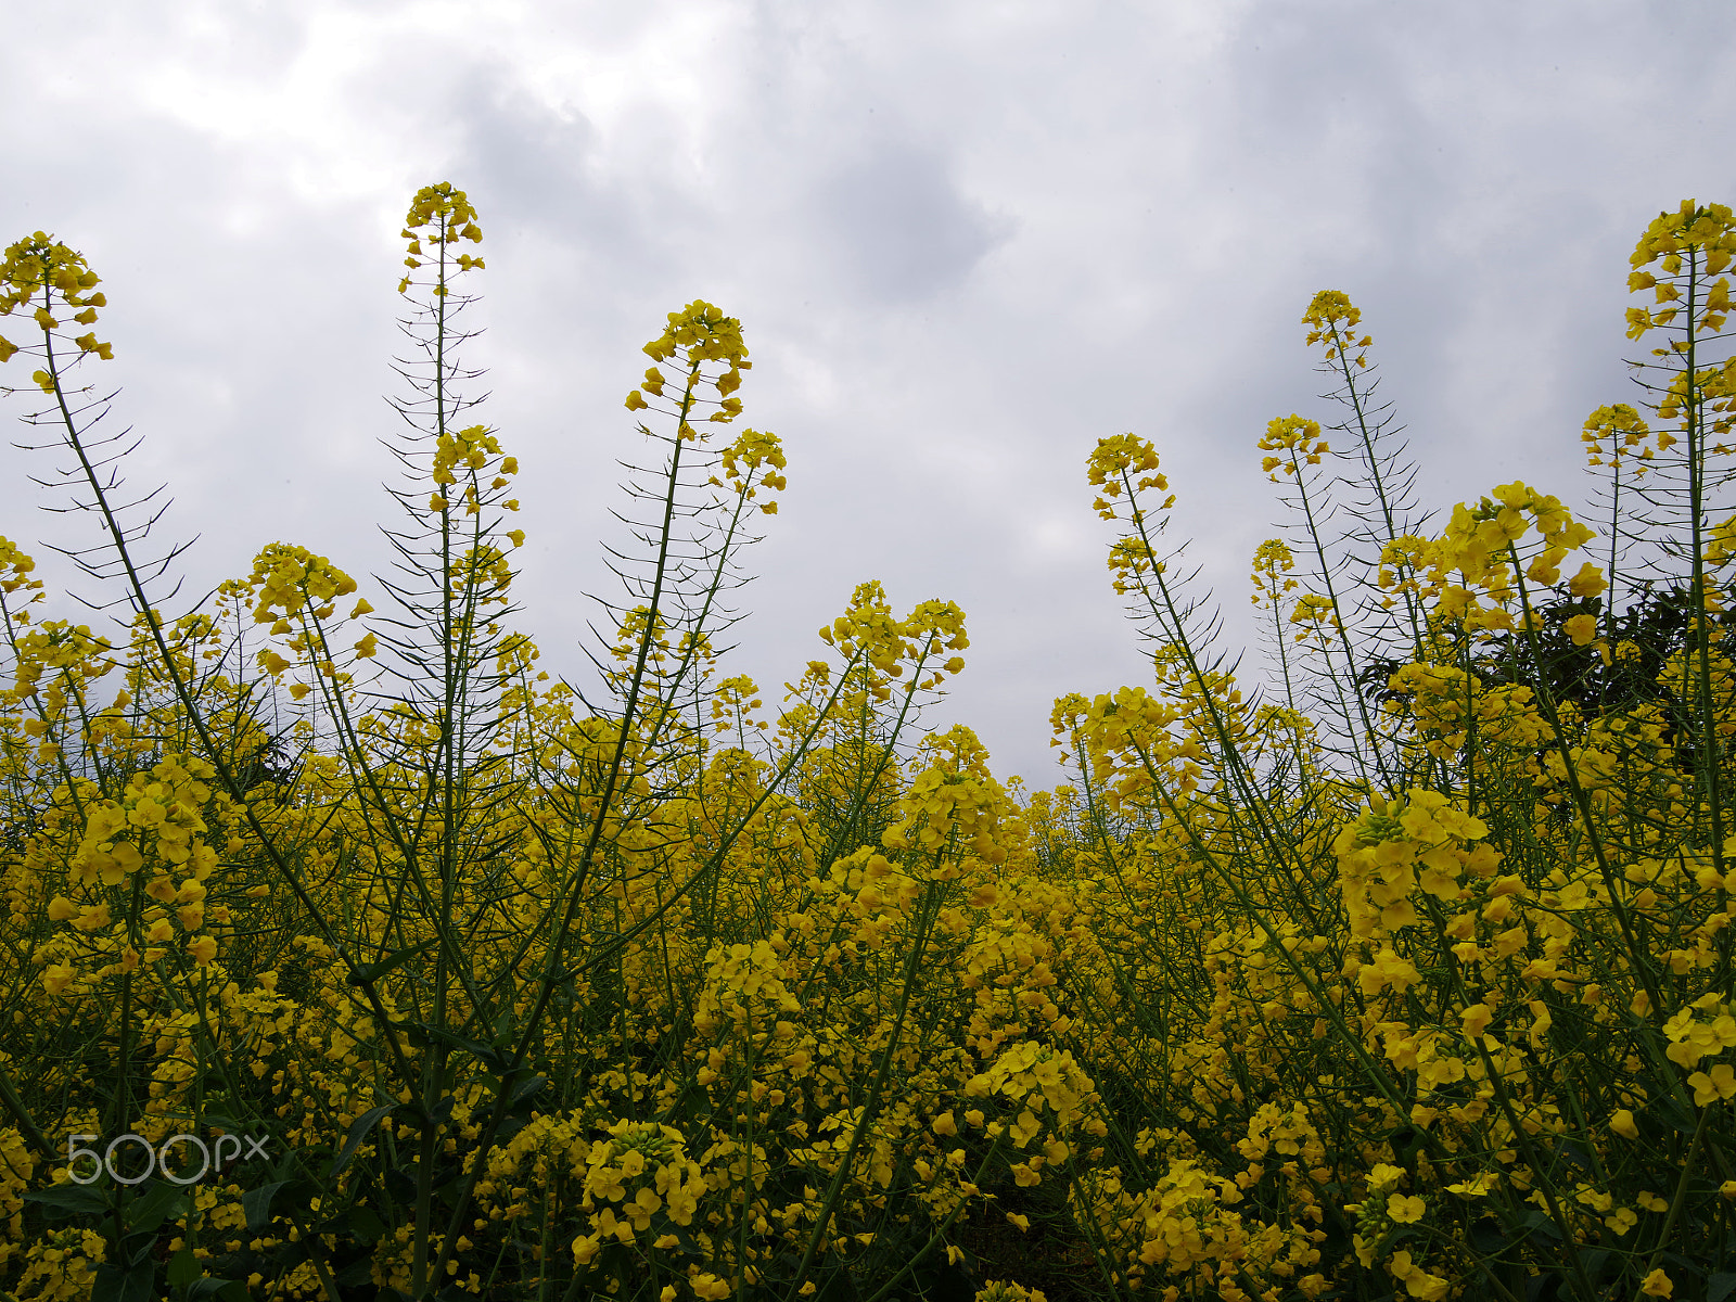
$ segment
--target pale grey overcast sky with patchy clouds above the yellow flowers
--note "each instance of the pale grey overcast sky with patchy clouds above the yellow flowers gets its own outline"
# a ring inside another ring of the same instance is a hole
[[[1635,238],[1736,201],[1727,3],[10,12],[0,236],[50,231],[104,278],[102,377],[148,436],[134,479],[175,496],[165,536],[201,535],[191,585],[279,538],[384,569],[398,231],[451,181],[484,231],[467,359],[526,470],[545,663],[583,674],[580,594],[608,590],[615,458],[641,443],[621,399],[703,297],[752,349],[743,424],[790,457],[731,672],[774,701],[865,578],[899,613],[953,599],[970,663],[932,720],[1038,786],[1055,696],[1149,681],[1095,439],[1156,443],[1246,642],[1248,557],[1288,524],[1253,443],[1330,417],[1316,290],[1361,306],[1427,505],[1514,477],[1575,505],[1580,424],[1632,399]],[[87,526],[33,509],[43,465],[0,460],[0,533],[28,547]]]

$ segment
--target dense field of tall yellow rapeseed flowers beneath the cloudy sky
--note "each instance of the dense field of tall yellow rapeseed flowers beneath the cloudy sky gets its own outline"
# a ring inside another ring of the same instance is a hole
[[[194,609],[95,273],[5,253],[0,375],[122,618],[0,538],[0,1297],[1736,1293],[1729,208],[1641,236],[1583,519],[1424,514],[1316,295],[1262,682],[1156,448],[1082,448],[1153,675],[1054,703],[1049,792],[922,727],[953,602],[865,582],[790,682],[729,674],[786,458],[705,302],[627,398],[595,686],[549,670],[481,236],[415,196],[396,569],[273,543]]]

